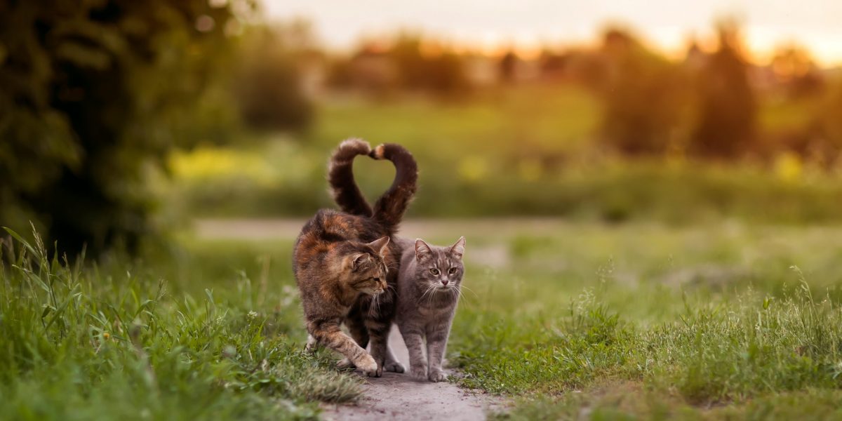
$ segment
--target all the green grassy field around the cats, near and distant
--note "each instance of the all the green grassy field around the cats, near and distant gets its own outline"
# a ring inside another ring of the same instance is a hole
[[[68,264],[22,232],[0,259],[0,418],[318,418],[360,399],[333,354],[303,353],[301,221],[191,229],[330,206],[325,160],[348,136],[417,157],[405,235],[467,237],[448,358],[504,402],[494,417],[842,418],[838,173],[615,157],[597,107],[571,87],[333,99],[312,131],[174,156],[152,184],[170,234],[140,257]],[[355,163],[370,198],[392,171]]]

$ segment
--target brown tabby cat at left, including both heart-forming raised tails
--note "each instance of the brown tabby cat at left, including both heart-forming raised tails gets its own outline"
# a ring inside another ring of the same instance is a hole
[[[354,182],[357,155],[388,159],[396,168],[392,186],[373,209]],[[415,194],[417,164],[400,145],[371,150],[365,141],[350,139],[333,153],[329,168],[333,197],[343,211],[319,210],[301,230],[293,256],[310,333],[307,348],[335,349],[345,356],[340,365],[355,365],[368,376],[381,376],[384,369],[402,372],[387,344],[402,250],[388,237],[397,232]],[[343,322],[353,339],[340,330]],[[365,353],[369,345],[370,355]]]

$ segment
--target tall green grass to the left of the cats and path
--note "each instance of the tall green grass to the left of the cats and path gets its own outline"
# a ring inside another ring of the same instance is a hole
[[[62,264],[35,238],[3,249],[0,418],[316,418],[315,402],[360,394],[328,353],[306,355],[287,336],[302,336],[290,285],[266,290],[262,279],[260,290],[245,273],[202,276],[195,264],[170,290],[160,276],[178,261]],[[248,262],[215,256],[222,267]]]

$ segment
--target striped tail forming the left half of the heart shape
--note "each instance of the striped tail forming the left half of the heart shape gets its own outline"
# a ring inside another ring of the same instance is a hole
[[[328,183],[339,209],[351,215],[371,216],[371,206],[354,181],[354,157],[370,155],[371,147],[362,139],[347,139],[333,151],[328,163]]]

